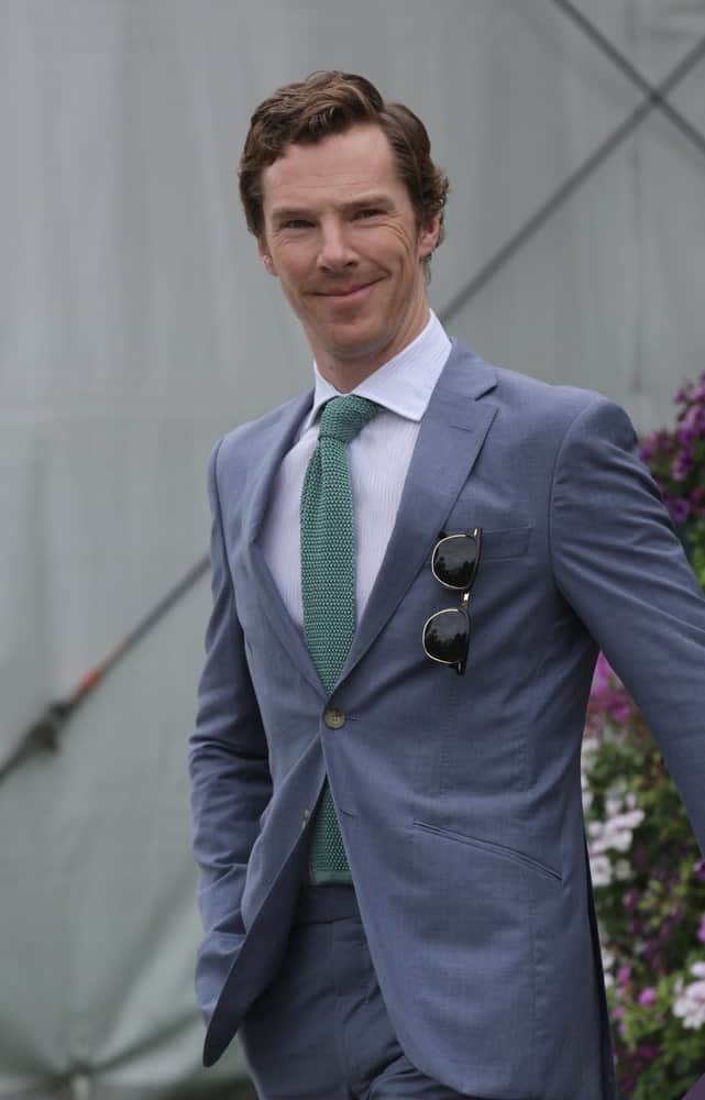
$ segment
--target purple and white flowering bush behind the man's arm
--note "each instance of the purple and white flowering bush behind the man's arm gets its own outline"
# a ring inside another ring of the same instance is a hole
[[[705,375],[675,400],[675,428],[646,439],[642,458],[705,588]],[[583,803],[620,1097],[682,1100],[705,1072],[705,860],[658,745],[602,654]]]

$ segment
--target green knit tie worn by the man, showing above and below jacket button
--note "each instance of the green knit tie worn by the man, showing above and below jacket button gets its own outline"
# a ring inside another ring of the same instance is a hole
[[[355,532],[348,443],[378,411],[374,402],[352,394],[333,397],[323,406],[318,444],[301,491],[304,634],[329,694],[355,632]],[[328,782],[312,823],[310,867],[320,886],[351,881]]]

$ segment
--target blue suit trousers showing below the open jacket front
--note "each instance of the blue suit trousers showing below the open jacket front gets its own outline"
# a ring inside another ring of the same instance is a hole
[[[301,888],[282,969],[239,1034],[260,1100],[466,1096],[425,1077],[401,1050],[352,887]]]

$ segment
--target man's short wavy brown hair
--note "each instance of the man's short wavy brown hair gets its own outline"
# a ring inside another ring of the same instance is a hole
[[[264,233],[262,169],[274,164],[288,145],[313,145],[359,123],[373,123],[384,131],[417,224],[426,226],[440,216],[438,244],[441,243],[449,183],[431,160],[426,127],[408,107],[386,102],[363,76],[338,70],[311,73],[305,80],[284,85],[252,116],[239,176],[240,198],[251,233],[257,239]],[[425,263],[429,260],[430,256]]]

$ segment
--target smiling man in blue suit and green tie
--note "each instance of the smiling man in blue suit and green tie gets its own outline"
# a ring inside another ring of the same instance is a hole
[[[448,183],[410,111],[315,74],[240,180],[316,385],[209,468],[205,1062],[240,1030],[266,1100],[613,1100],[585,705],[602,648],[703,845],[705,602],[626,415],[430,314]]]

